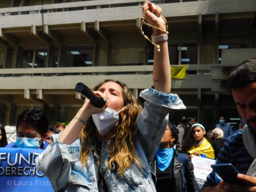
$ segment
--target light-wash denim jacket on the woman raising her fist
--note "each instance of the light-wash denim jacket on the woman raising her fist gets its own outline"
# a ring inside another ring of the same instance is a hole
[[[175,94],[146,89],[141,92],[141,97],[146,101],[144,109],[137,118],[139,133],[134,138],[134,151],[142,163],[141,167],[136,163],[128,167],[121,177],[116,173],[114,166],[107,166],[107,145],[109,140],[103,141],[101,162],[97,166],[95,158],[97,154],[91,151],[86,165],[80,161],[81,145],[79,139],[70,145],[58,142],[59,134],[51,135],[52,143],[36,159],[36,167],[52,181],[54,191],[79,191],[97,192],[98,174],[103,176],[108,191],[110,192],[155,192],[154,182],[151,178],[149,164],[154,158],[155,152],[166,130],[168,113],[170,108],[186,108],[180,98]],[[93,150],[94,147],[91,146]]]

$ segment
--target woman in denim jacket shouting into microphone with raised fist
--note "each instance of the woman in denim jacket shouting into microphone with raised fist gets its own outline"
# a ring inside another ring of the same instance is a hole
[[[142,9],[145,20],[161,29],[153,28],[154,36],[161,36],[166,30],[161,8],[147,1]],[[149,163],[166,130],[170,108],[185,108],[177,95],[170,94],[168,44],[159,39],[154,87],[140,94],[146,100],[143,110],[125,84],[104,80],[94,92],[105,106],[97,108],[85,99],[69,125],[51,135],[52,143],[38,156],[36,167],[52,181],[54,191],[156,191]]]

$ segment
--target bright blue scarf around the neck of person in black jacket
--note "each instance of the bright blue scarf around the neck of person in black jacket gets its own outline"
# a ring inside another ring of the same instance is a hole
[[[161,171],[165,171],[167,167],[170,166],[172,158],[174,155],[174,149],[163,149],[163,148],[158,148],[156,151],[156,159],[158,161],[157,165],[158,168]]]

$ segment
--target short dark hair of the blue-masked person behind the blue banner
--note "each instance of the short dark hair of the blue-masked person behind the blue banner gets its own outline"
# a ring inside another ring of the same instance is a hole
[[[16,130],[21,124],[29,124],[34,127],[40,135],[48,131],[48,119],[46,114],[39,108],[30,108],[18,115]]]

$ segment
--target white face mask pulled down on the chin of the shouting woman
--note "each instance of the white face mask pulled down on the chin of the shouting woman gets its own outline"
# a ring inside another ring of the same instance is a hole
[[[102,136],[110,132],[110,130],[118,123],[119,121],[118,113],[121,112],[123,109],[124,108],[116,112],[115,110],[107,107],[101,113],[92,115],[92,120],[94,121],[94,124],[98,129],[98,132]]]

